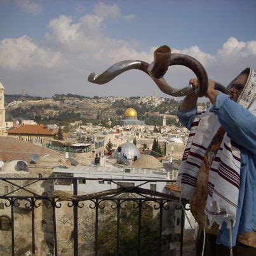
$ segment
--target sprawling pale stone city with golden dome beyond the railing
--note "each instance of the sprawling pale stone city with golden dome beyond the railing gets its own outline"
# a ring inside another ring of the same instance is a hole
[[[204,109],[206,105],[200,104],[199,108]],[[36,193],[44,198],[55,196],[55,192],[72,194],[76,179],[77,193],[81,195],[115,191],[120,187],[140,187],[178,198],[180,189],[175,180],[188,137],[188,130],[177,119],[178,107],[177,99],[158,97],[156,92],[152,96],[129,98],[90,98],[72,94],[41,98],[29,96],[25,92],[22,95],[4,95],[4,86],[1,84],[0,177],[4,180],[1,180],[0,192],[14,197]],[[38,180],[29,186],[29,190],[24,190],[19,187],[26,187],[27,180],[19,180],[18,184],[6,183],[5,179],[10,177]],[[55,180],[41,180],[51,177]],[[114,182],[115,179],[119,181]],[[144,179],[158,182],[142,182]],[[70,222],[72,209],[64,205],[55,216],[62,237],[56,249],[56,245],[53,246],[54,218],[52,212],[45,207],[45,200],[42,207],[34,212],[34,232],[37,234],[35,243],[38,245],[34,250],[43,255],[51,254],[53,250],[70,255],[70,244],[62,241],[71,241],[74,225]],[[21,203],[15,206],[17,209],[14,217],[23,220],[16,221],[14,227],[22,230],[31,221],[30,208],[27,209],[22,200],[19,201]],[[5,203],[6,200],[1,199],[0,237],[4,241],[3,251],[8,254],[13,244],[10,209]],[[176,204],[179,205],[179,202]],[[151,207],[151,204],[148,205]],[[162,227],[165,234],[163,239],[168,242],[166,245],[170,244],[163,249],[167,253],[170,253],[170,248],[172,252],[179,251],[177,243],[182,234],[182,213],[173,207],[165,213],[166,220]],[[86,216],[94,214],[90,211],[81,213],[79,218],[88,220]],[[112,213],[104,214],[102,220],[112,216]],[[152,207],[149,223],[158,214]],[[191,247],[194,232],[189,226],[193,218],[191,213],[188,214],[190,221],[185,221],[185,232],[189,238],[187,249],[184,250],[189,252],[194,250]],[[88,226],[83,227],[83,234],[87,234],[93,227],[90,221]],[[17,241],[24,241],[29,232],[18,231]],[[152,234],[154,232],[153,228]],[[92,239],[91,232],[87,235]],[[45,246],[39,246],[41,243],[45,243]],[[92,250],[93,246],[88,243],[88,250]],[[78,245],[82,246],[83,243],[79,242]],[[15,250],[19,252],[18,248]],[[25,248],[24,252],[27,252]]]

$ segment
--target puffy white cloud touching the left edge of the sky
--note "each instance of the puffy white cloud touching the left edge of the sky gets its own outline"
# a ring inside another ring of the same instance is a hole
[[[7,69],[52,68],[60,65],[60,53],[40,48],[27,36],[0,41],[0,65]]]

